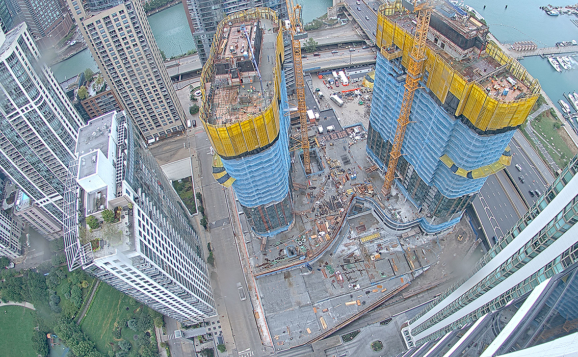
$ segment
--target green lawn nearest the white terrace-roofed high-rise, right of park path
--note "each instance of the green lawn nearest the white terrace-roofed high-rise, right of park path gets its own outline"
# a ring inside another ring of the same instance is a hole
[[[98,292],[93,298],[92,305],[88,309],[86,316],[84,316],[80,327],[88,338],[94,341],[98,351],[103,354],[106,354],[110,349],[111,342],[118,342],[114,340],[112,334],[114,323],[120,325],[120,321],[135,315],[133,311],[138,305],[131,305],[129,303],[130,300],[127,295],[101,282]],[[128,327],[123,328],[121,336],[124,339],[134,343],[133,335],[134,332]]]

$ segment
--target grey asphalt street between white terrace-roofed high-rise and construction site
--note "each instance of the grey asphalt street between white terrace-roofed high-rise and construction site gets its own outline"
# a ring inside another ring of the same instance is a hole
[[[243,351],[243,355],[250,351],[262,355],[264,351],[255,323],[251,300],[241,301],[239,297],[238,282],[242,284],[246,296],[249,295],[249,292],[233,237],[225,190],[211,174],[212,156],[209,139],[202,127],[198,127],[190,133],[190,135],[194,135],[195,155],[199,162],[199,172],[201,172],[203,202],[209,221],[210,241],[215,257],[216,269],[210,273],[213,296],[217,303],[217,311],[221,315],[221,322],[224,319],[223,307],[221,306],[224,304],[226,317],[231,325],[235,341],[235,349],[232,350],[229,344],[228,352],[229,354],[232,352],[234,356],[239,355],[238,351]],[[195,179],[199,181],[198,177]]]

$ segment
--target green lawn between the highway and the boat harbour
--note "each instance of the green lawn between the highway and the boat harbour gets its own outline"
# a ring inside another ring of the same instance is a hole
[[[572,139],[568,137],[564,128],[559,127],[560,124],[560,120],[554,119],[549,111],[543,112],[531,122],[531,126],[538,134],[544,148],[548,150],[556,164],[563,168],[568,164],[568,160],[576,154],[576,146],[573,145]],[[554,128],[554,126],[558,128]]]

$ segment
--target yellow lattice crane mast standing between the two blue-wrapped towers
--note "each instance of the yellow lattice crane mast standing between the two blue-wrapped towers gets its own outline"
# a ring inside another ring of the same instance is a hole
[[[309,135],[307,134],[307,106],[305,105],[305,80],[303,80],[303,62],[301,61],[301,43],[299,38],[305,38],[301,21],[301,5],[293,5],[292,0],[286,0],[287,14],[291,22],[291,45],[293,47],[293,68],[295,71],[295,93],[297,93],[297,112],[301,123],[301,148],[303,149],[303,165],[307,175],[311,173],[309,158]]]

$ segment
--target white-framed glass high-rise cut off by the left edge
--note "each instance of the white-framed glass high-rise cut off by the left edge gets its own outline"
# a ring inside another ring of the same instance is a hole
[[[68,163],[80,117],[58,85],[26,23],[0,32],[0,168],[54,222],[62,222]]]

